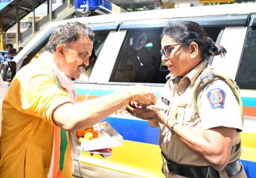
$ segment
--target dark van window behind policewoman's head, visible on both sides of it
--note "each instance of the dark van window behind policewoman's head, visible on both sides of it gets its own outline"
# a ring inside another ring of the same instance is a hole
[[[169,71],[162,64],[160,35],[163,28],[128,30],[110,77],[113,82],[166,83]],[[222,28],[205,28],[217,40]]]

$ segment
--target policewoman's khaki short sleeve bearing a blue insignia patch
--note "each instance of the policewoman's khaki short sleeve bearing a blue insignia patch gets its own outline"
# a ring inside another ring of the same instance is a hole
[[[236,95],[222,80],[205,86],[199,98],[199,114],[205,130],[219,126],[243,130],[243,117]]]

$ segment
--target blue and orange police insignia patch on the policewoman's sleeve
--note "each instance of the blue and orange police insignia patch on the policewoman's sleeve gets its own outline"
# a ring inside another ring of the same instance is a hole
[[[210,102],[212,109],[216,109],[218,107],[223,108],[225,97],[225,91],[219,88],[212,89],[207,93],[207,98],[208,101]]]

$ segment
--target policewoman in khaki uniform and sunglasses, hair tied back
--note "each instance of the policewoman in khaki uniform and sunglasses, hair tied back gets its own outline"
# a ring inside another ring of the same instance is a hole
[[[156,105],[127,106],[133,116],[160,128],[166,177],[247,177],[240,162],[243,107],[238,87],[215,73],[209,56],[226,54],[195,22],[162,32],[162,61],[170,74]]]

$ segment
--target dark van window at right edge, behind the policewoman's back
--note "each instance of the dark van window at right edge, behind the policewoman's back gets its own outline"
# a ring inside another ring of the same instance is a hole
[[[256,28],[250,27],[236,73],[236,83],[241,89],[256,89]]]

